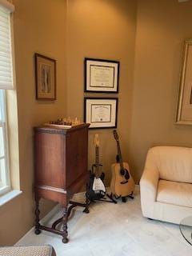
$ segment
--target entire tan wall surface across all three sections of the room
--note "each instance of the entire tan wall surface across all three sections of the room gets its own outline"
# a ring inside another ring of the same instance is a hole
[[[191,126],[174,125],[182,42],[191,37],[191,2],[138,0],[137,21],[136,1],[131,0],[13,2],[23,193],[0,209],[1,245],[16,242],[33,225],[32,127],[59,116],[83,118],[83,97],[98,96],[83,92],[85,57],[121,63],[120,90],[113,96],[119,98],[118,132],[123,158],[130,162],[137,181],[150,146],[192,146]],[[34,52],[58,60],[56,102],[35,100]],[[90,131],[89,166],[94,162],[96,132],[109,183],[116,145],[112,130]],[[46,212],[50,204],[43,202],[43,209]]]

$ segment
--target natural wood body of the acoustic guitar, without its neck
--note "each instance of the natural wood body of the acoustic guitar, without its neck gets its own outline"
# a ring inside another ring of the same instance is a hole
[[[129,165],[127,162],[123,162],[123,168],[126,169],[129,174]],[[114,163],[111,166],[111,172],[112,172],[112,178],[111,178],[111,182],[110,182],[110,190],[111,193],[118,196],[118,197],[126,197],[130,194],[133,194],[134,192],[134,179],[131,177],[128,179],[127,182],[125,182],[125,177],[121,174],[121,167],[120,164]]]

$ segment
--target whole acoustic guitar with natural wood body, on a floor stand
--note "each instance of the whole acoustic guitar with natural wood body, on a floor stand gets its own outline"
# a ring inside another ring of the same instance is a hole
[[[118,133],[114,132],[114,139],[118,147],[118,162],[111,166],[112,178],[110,182],[111,193],[118,197],[131,196],[134,193],[134,179],[131,177],[130,168],[127,162],[122,162],[122,152],[118,139]]]

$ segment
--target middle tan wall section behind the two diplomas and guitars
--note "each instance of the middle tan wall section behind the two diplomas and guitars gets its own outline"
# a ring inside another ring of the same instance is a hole
[[[67,10],[67,114],[83,118],[84,96],[118,96],[118,131],[123,158],[128,160],[126,148],[130,141],[136,1],[73,0],[69,1]],[[119,94],[84,94],[85,57],[120,61]],[[116,156],[112,129],[90,131],[89,166],[94,163],[95,133],[99,134],[100,160],[109,184],[110,165]]]

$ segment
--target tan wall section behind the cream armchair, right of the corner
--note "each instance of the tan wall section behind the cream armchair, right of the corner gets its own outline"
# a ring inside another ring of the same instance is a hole
[[[192,127],[174,124],[182,44],[192,36],[191,8],[191,1],[138,1],[129,148],[137,179],[150,146],[192,146]]]

